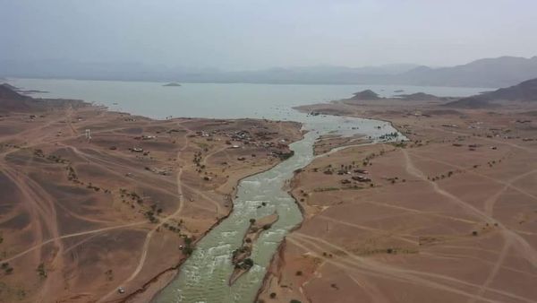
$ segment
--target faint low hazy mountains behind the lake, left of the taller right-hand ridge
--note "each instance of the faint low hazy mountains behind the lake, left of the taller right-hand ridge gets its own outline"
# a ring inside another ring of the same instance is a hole
[[[0,61],[0,76],[152,82],[354,84],[385,82],[384,78],[387,76],[405,73],[417,66],[419,65],[394,64],[363,67],[319,65],[225,72],[209,68],[142,65],[135,62]]]

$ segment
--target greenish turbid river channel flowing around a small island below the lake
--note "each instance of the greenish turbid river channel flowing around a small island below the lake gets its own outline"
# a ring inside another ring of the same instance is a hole
[[[304,135],[303,140],[290,145],[294,156],[273,169],[240,182],[232,214],[197,243],[179,275],[158,294],[154,302],[253,302],[278,245],[303,219],[285,187],[294,170],[302,169],[313,160],[315,140],[328,133],[364,134],[379,140],[382,134],[396,132],[386,122],[359,118],[303,116],[302,122],[309,133]],[[234,271],[232,253],[242,246],[250,219],[260,219],[274,212],[279,216],[278,221],[263,231],[253,244],[253,267],[229,287],[228,281]]]

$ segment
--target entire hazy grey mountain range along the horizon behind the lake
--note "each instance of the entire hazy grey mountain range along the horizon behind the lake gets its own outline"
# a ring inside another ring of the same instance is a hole
[[[155,82],[395,84],[499,88],[537,78],[537,56],[501,56],[473,61],[466,65],[439,68],[411,64],[363,67],[320,65],[238,72],[129,62],[5,61],[0,62],[0,76]]]

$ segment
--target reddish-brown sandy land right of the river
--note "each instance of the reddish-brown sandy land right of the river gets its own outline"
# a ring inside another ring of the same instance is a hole
[[[537,302],[537,106],[374,100],[301,108],[391,121],[295,175],[305,220],[260,302]]]

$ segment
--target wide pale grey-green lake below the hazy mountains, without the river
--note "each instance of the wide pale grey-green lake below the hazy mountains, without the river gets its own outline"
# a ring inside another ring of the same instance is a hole
[[[383,97],[426,92],[437,96],[470,96],[484,88],[421,87],[404,85],[292,85],[246,83],[183,83],[163,87],[161,82],[9,79],[26,90],[50,91],[35,97],[80,99],[104,104],[113,110],[164,118],[267,117],[285,119],[294,106],[349,98],[371,89]],[[394,92],[403,90],[404,92]],[[117,103],[117,105],[115,105]]]

